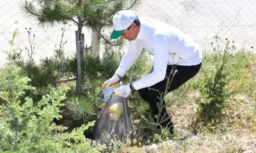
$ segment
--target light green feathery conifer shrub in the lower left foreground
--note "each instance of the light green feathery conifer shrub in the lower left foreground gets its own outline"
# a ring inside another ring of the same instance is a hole
[[[13,34],[13,40],[17,31]],[[14,42],[10,41],[11,50]],[[5,64],[4,73],[0,74],[0,151],[1,152],[100,152],[106,147],[91,143],[84,137],[86,129],[93,122],[82,125],[70,133],[63,133],[67,128],[57,126],[53,119],[60,119],[60,106],[66,99],[68,88],[61,86],[58,91],[51,89],[49,94],[33,105],[33,99],[24,97],[24,91],[35,90],[28,85],[28,77],[20,77],[20,68],[14,61]],[[4,81],[3,81],[4,80]],[[24,103],[20,99],[24,98]]]

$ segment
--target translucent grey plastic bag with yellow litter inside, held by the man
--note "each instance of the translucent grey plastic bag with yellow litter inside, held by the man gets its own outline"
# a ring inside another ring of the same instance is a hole
[[[122,82],[116,84],[120,87]],[[93,127],[93,138],[99,143],[108,143],[114,135],[119,140],[130,140],[135,135],[131,113],[127,105],[127,98],[116,96],[111,93],[106,105],[100,111],[95,126]]]

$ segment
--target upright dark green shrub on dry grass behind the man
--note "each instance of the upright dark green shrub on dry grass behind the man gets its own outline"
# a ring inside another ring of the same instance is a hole
[[[210,60],[207,59],[210,57]],[[227,89],[227,84],[230,81],[228,75],[232,73],[227,68],[227,62],[231,60],[232,48],[228,40],[223,50],[214,47],[213,52],[205,57],[208,65],[204,67],[205,69],[202,69],[202,71],[205,71],[205,77],[204,85],[200,87],[200,94],[204,101],[200,103],[198,109],[200,117],[206,121],[211,122],[218,117],[225,101],[231,95],[231,92]]]

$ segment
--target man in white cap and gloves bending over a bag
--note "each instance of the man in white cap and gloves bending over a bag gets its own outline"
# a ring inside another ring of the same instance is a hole
[[[154,120],[157,122],[158,117],[158,122],[162,120],[159,124],[173,133],[173,123],[166,112],[163,97],[163,108],[159,114],[159,92],[167,94],[198,73],[202,64],[199,45],[172,25],[148,17],[138,18],[131,10],[118,11],[113,17],[113,25],[110,38],[129,40],[129,45],[115,74],[103,86],[116,84],[125,75],[136,61],[141,47],[151,52],[154,55],[153,71],[136,82],[120,87],[114,94],[126,98],[131,92],[138,91],[152,108]],[[170,85],[167,87],[168,78]]]

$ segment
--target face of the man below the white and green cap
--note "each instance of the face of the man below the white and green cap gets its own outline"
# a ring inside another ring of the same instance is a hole
[[[126,29],[124,33],[120,36],[120,38],[126,39],[126,40],[135,40],[138,36],[138,33],[140,31],[140,27],[138,27],[136,24],[132,24],[130,29]]]

